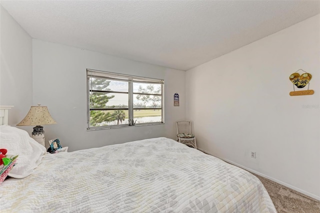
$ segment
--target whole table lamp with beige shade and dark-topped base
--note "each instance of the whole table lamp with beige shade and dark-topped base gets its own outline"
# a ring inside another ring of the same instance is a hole
[[[44,131],[43,126],[47,124],[55,124],[55,120],[51,117],[48,108],[46,106],[31,106],[29,112],[19,122],[18,126],[35,125],[32,131],[32,138],[35,139],[41,145],[44,145]]]

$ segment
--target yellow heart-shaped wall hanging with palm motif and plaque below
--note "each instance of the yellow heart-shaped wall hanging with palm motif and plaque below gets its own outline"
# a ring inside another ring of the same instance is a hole
[[[297,71],[303,71],[301,75],[297,73]],[[293,83],[293,91],[290,91],[290,96],[296,96],[296,95],[308,95],[313,94],[314,91],[312,89],[309,90],[310,80],[312,78],[312,75],[310,73],[307,73],[306,71],[302,69],[296,70],[294,73],[290,74],[289,80]],[[294,90],[294,85],[298,88],[303,88],[304,86],[308,85],[307,90]]]

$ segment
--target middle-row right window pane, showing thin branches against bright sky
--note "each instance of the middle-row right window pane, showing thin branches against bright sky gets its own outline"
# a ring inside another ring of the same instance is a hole
[[[133,108],[161,108],[161,95],[133,94]]]

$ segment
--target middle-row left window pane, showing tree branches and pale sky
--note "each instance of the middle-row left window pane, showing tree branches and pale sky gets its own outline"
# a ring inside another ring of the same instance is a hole
[[[90,92],[90,108],[128,108],[128,94]]]

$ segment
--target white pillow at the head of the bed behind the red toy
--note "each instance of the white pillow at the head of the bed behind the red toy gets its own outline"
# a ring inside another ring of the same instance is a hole
[[[9,125],[0,125],[0,148],[7,149],[8,155],[19,155],[16,164],[8,173],[8,176],[14,178],[30,175],[46,153],[45,147],[25,130]]]

